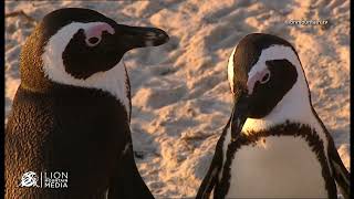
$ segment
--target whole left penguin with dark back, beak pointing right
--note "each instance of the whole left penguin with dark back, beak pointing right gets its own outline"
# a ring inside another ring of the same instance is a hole
[[[88,9],[45,15],[20,56],[6,129],[6,198],[154,198],[134,160],[121,60],[167,41],[160,29],[117,24]],[[67,172],[67,188],[20,186],[25,172],[39,179],[54,171]]]

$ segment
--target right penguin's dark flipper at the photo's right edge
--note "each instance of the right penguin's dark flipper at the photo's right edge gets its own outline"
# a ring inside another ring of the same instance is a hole
[[[329,158],[331,168],[333,170],[333,177],[341,189],[341,192],[345,199],[350,199],[351,193],[351,175],[346,170],[343,161],[335,148],[334,142],[331,138],[329,143]]]

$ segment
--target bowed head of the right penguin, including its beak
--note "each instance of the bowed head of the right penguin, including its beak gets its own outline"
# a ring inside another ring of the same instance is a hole
[[[270,115],[284,97],[299,103],[295,95],[306,94],[300,97],[309,100],[298,53],[289,42],[275,35],[244,36],[229,59],[228,77],[235,97],[235,128],[242,126],[247,118]]]

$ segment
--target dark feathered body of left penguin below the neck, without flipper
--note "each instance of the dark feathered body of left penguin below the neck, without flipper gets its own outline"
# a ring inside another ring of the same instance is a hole
[[[7,196],[91,197],[106,191],[131,142],[128,123],[122,121],[127,121],[124,106],[98,90],[60,85],[33,92],[20,86],[6,133]],[[67,188],[21,188],[27,171],[69,172]]]

